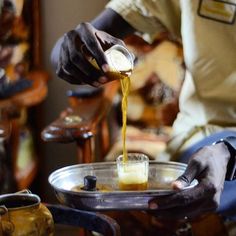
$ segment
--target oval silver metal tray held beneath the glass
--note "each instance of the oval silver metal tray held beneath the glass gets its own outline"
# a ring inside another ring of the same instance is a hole
[[[147,210],[153,197],[172,194],[170,183],[186,168],[177,162],[149,162],[148,189],[144,191],[120,191],[118,189],[115,162],[78,164],[54,171],[49,176],[60,203],[84,210]],[[97,177],[97,191],[83,191],[84,177]],[[197,184],[194,180],[187,188]],[[100,188],[100,190],[99,190]]]

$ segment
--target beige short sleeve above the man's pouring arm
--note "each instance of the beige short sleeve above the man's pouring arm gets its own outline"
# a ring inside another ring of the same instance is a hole
[[[122,16],[142,34],[145,40],[152,41],[158,34],[171,31],[173,28],[173,24],[170,23],[173,20],[171,2],[166,0],[111,0],[106,8],[111,8]],[[176,20],[174,19],[174,21]]]

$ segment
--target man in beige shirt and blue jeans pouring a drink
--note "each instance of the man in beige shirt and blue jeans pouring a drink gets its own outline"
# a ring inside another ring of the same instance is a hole
[[[174,160],[190,157],[173,188],[181,189],[193,179],[199,184],[150,202],[159,216],[195,217],[219,206],[221,213],[236,215],[236,196],[228,191],[236,183],[225,182],[225,176],[232,179],[235,171],[235,11],[235,1],[114,0],[91,23],[66,33],[53,49],[59,77],[73,84],[100,86],[110,79],[104,51],[114,44],[124,45],[118,38],[137,32],[151,42],[168,32],[182,42],[186,74],[167,151]],[[96,59],[101,70],[87,61],[88,56]],[[219,142],[212,145],[215,141]]]

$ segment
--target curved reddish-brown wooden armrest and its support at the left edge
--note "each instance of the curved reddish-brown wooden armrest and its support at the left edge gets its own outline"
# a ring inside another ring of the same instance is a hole
[[[20,92],[9,99],[0,100],[1,110],[1,127],[0,132],[4,135],[5,152],[11,159],[13,174],[16,178],[17,189],[28,188],[36,176],[38,169],[38,156],[35,153],[34,162],[27,166],[24,170],[27,174],[19,175],[17,162],[17,151],[19,147],[19,129],[20,129],[20,113],[22,109],[29,109],[38,105],[47,95],[47,78],[48,74],[43,71],[32,71],[28,75],[33,81],[31,88]]]

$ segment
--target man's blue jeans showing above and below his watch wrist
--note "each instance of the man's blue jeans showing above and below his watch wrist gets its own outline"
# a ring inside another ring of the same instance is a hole
[[[227,136],[236,136],[236,132],[227,130],[206,137],[183,152],[180,156],[180,162],[187,163],[190,156],[199,148],[206,145],[211,145],[213,142]],[[236,220],[236,180],[225,181],[220,199],[220,206],[217,209],[217,212],[229,219]]]

